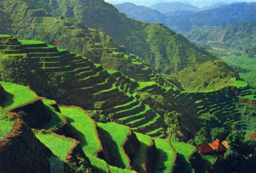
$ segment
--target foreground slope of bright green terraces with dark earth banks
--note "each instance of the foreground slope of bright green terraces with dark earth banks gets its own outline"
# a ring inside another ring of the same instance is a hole
[[[5,98],[1,102],[4,108],[0,110],[1,124],[4,121],[5,127],[8,127],[4,131],[1,128],[0,133],[0,160],[4,163],[0,165],[1,171],[169,172],[173,170],[173,164],[178,162],[176,149],[179,146],[172,148],[167,140],[152,139],[150,136],[134,133],[129,127],[114,122],[96,123],[80,107],[58,106],[55,101],[46,98],[38,98],[33,102],[24,100],[24,97],[19,97],[15,88],[23,89],[25,86],[3,82],[1,84],[4,92],[8,91],[17,96],[15,104],[11,105],[14,107],[12,111],[25,111],[28,118],[6,111],[9,108],[3,105],[14,101],[12,98]],[[28,88],[23,90],[23,94],[37,97]],[[30,97],[26,97],[28,98]],[[41,124],[35,126],[33,121],[28,121],[33,117],[33,109],[48,109],[54,114],[47,117],[49,112],[42,112],[42,121],[35,119]],[[58,117],[60,113],[62,117]],[[56,118],[63,119],[63,122],[59,124],[53,121]],[[45,128],[46,124],[55,125],[55,128]],[[32,131],[31,127],[37,129]],[[34,158],[32,162],[26,154]],[[165,157],[159,157],[163,155]],[[17,161],[14,158],[19,161],[15,166],[12,165]]]

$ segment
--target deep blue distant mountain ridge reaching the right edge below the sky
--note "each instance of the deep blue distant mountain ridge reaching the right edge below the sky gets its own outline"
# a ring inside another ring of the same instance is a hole
[[[227,26],[256,20],[256,3],[233,3],[199,12],[166,13],[166,26],[181,34],[194,27]]]

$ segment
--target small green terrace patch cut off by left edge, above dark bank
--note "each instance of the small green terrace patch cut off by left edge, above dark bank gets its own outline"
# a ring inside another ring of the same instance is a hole
[[[14,126],[14,121],[10,120],[10,115],[2,107],[0,107],[0,124],[0,141],[2,141]]]

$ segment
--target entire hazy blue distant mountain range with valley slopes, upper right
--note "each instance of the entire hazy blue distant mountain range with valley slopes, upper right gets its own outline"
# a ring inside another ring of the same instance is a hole
[[[158,16],[161,17],[154,20],[155,22],[165,24],[172,30],[185,35],[189,40],[197,42],[197,44],[220,50],[225,49],[226,52],[232,54],[246,53],[255,56],[253,50],[256,40],[254,31],[256,3],[222,3],[206,6],[203,9],[192,8],[193,6],[183,3],[179,3],[179,6],[176,5],[177,3],[171,4],[173,4],[173,8],[167,8],[168,5],[163,5],[160,11],[168,11],[169,9],[171,12],[162,13],[165,17],[158,13]],[[136,5],[133,4],[133,6]],[[139,20],[142,20],[140,18],[143,16],[143,20],[150,23],[156,18],[152,10],[145,6],[136,6],[135,11],[129,10],[127,4],[116,5],[116,8],[129,17]],[[173,11],[174,9],[177,11]],[[137,15],[138,13],[140,15]],[[162,20],[159,21],[159,19]]]

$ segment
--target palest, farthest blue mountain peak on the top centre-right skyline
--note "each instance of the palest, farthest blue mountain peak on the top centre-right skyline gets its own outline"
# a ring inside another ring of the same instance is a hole
[[[172,11],[199,11],[200,10],[196,6],[181,3],[181,2],[157,3],[149,6],[149,8],[160,11],[161,13],[169,13]]]

